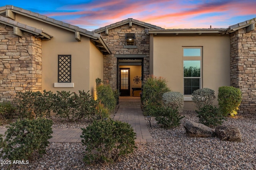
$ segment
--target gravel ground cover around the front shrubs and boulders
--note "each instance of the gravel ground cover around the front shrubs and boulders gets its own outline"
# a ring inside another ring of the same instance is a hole
[[[185,119],[198,122],[193,111],[184,111]],[[85,127],[54,118],[53,127]],[[86,122],[86,121],[85,121]],[[88,121],[89,122],[89,121]],[[87,123],[88,123],[87,122]],[[34,155],[29,164],[16,164],[12,170],[255,170],[256,115],[244,114],[227,118],[223,125],[234,125],[242,133],[242,143],[220,141],[218,138],[192,138],[186,135],[183,124],[163,129],[154,118],[149,127],[154,143],[137,143],[133,154],[114,164],[86,165],[81,143],[50,143],[42,157]],[[2,159],[0,159],[2,160]],[[0,169],[8,166],[1,164]]]

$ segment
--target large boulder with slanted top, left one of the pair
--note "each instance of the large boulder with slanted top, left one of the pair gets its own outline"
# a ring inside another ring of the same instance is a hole
[[[187,119],[184,123],[184,128],[190,137],[215,137],[214,130],[202,123]]]

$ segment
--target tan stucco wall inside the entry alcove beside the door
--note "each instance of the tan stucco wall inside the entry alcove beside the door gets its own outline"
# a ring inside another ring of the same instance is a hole
[[[135,76],[141,77],[141,66],[119,66],[119,68],[130,68],[130,96],[132,96],[132,88],[141,88],[141,82],[136,84],[133,79]],[[134,97],[140,96],[141,91],[134,91]]]

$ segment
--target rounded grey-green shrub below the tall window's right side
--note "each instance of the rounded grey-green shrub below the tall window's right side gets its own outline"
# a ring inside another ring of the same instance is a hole
[[[201,88],[192,93],[192,100],[197,109],[212,105],[215,100],[214,90],[210,88]]]

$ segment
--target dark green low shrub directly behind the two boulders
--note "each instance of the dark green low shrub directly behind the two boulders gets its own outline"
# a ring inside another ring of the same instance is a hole
[[[204,105],[199,110],[196,110],[199,117],[199,123],[202,123],[206,126],[216,126],[221,125],[224,116],[219,108],[212,105]]]

